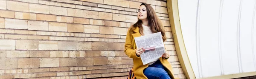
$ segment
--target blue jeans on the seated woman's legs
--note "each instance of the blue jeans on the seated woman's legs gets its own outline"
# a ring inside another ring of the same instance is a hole
[[[160,60],[157,60],[157,62],[145,68],[143,73],[148,79],[171,79],[165,70],[166,68],[162,65]]]

